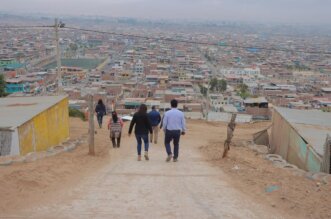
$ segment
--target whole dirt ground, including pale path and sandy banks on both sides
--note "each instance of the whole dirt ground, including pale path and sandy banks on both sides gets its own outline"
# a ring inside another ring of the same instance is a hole
[[[96,156],[86,144],[31,163],[0,167],[0,218],[330,218],[331,188],[277,169],[244,147],[220,159],[225,125],[188,121],[177,163],[164,146],[150,161],[136,161],[133,136],[110,147],[96,129]],[[251,139],[266,123],[241,125],[234,142]],[[87,136],[87,123],[71,119],[71,138]],[[235,167],[235,168],[234,168]],[[269,185],[279,190],[265,192]]]

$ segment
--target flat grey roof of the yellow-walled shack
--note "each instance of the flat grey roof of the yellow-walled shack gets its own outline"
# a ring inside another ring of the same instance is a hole
[[[0,98],[0,128],[16,128],[67,96]]]

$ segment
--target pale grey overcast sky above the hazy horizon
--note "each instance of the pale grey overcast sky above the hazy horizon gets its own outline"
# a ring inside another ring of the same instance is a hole
[[[0,11],[331,24],[331,0],[0,0]]]

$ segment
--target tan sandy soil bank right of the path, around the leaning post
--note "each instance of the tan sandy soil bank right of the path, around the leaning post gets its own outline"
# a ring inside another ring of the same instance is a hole
[[[290,170],[274,167],[264,155],[243,146],[252,134],[269,123],[245,124],[236,127],[233,146],[226,159],[221,159],[224,141],[209,141],[200,149],[205,157],[224,171],[241,192],[297,218],[331,218],[331,185],[295,176]],[[224,125],[217,124],[224,130]],[[224,130],[225,131],[225,130]],[[222,133],[222,132],[220,132]],[[225,132],[223,132],[225,133]],[[239,168],[239,169],[238,169]],[[266,192],[268,186],[279,190]]]

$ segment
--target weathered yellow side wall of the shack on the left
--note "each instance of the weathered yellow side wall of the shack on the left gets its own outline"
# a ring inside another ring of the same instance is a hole
[[[20,155],[44,151],[69,138],[68,99],[65,98],[18,128]]]

